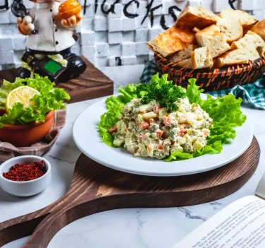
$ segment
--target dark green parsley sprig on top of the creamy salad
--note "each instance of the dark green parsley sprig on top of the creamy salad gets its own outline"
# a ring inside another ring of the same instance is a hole
[[[168,75],[164,74],[159,78],[157,73],[152,77],[151,83],[140,83],[136,86],[137,94],[142,97],[141,102],[147,104],[152,100],[159,102],[161,107],[166,107],[168,112],[178,110],[175,101],[184,98],[185,92],[182,87],[173,85],[172,81],[167,80]]]

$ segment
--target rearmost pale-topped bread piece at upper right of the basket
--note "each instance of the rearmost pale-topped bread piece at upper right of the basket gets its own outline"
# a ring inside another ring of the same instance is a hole
[[[249,31],[255,23],[257,23],[257,19],[255,19],[254,16],[249,15],[249,13],[245,11],[233,10],[232,8],[224,9],[221,11],[220,16],[225,19],[240,20],[244,34],[247,33],[247,31]]]

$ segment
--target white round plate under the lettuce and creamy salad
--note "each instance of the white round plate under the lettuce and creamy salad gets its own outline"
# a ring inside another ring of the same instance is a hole
[[[206,95],[202,94],[206,99]],[[249,122],[235,128],[237,136],[223,146],[220,154],[206,154],[198,158],[164,162],[154,158],[134,158],[125,148],[110,148],[97,132],[100,116],[106,112],[105,99],[83,111],[73,125],[73,139],[78,148],[92,160],[115,170],[149,176],[180,176],[214,170],[230,163],[247,150],[253,133]]]

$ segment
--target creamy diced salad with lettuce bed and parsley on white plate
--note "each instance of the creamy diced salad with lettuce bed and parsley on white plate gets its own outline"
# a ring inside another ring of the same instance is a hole
[[[98,131],[111,147],[124,147],[135,157],[165,161],[221,153],[235,138],[235,126],[242,126],[242,99],[234,95],[201,98],[195,79],[187,90],[173,85],[157,73],[150,84],[120,87],[118,97],[106,99]]]

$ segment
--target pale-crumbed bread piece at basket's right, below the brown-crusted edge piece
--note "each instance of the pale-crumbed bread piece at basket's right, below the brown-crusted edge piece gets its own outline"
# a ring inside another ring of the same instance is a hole
[[[265,56],[265,42],[262,38],[252,31],[248,31],[247,34],[242,37],[240,40],[233,42],[231,45],[232,49],[240,49],[245,48],[249,49],[249,47],[254,46],[259,52],[260,57]]]

